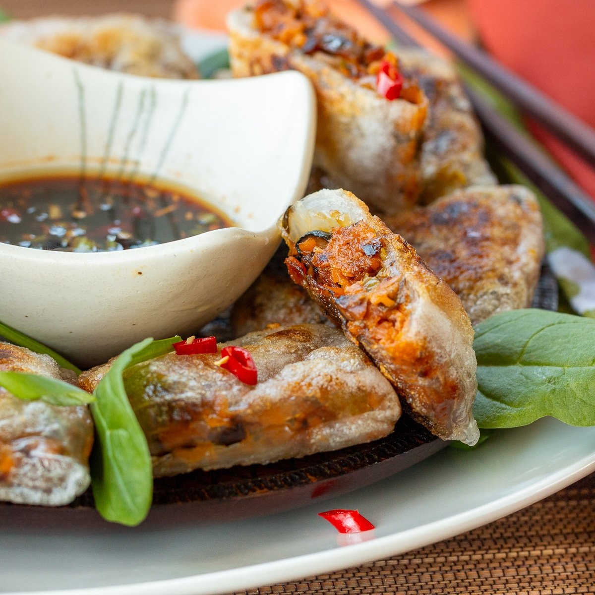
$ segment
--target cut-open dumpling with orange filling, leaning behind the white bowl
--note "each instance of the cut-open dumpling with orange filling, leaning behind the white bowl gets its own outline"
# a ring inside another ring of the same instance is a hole
[[[260,0],[231,12],[227,25],[234,76],[293,68],[314,84],[314,164],[334,184],[352,189],[378,212],[418,202],[427,99],[408,77],[399,98],[378,92],[380,64],[392,61],[398,70],[394,54],[367,42],[318,1]]]

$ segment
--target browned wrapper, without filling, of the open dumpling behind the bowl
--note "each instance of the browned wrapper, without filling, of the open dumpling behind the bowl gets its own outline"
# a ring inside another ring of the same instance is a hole
[[[378,212],[417,203],[425,98],[419,104],[387,101],[337,71],[320,52],[305,55],[259,33],[249,7],[231,12],[227,26],[233,76],[293,68],[314,84],[318,104],[314,164],[325,170],[332,184],[353,189]]]

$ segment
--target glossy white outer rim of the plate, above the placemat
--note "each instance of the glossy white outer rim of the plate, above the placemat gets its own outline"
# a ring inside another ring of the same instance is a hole
[[[552,420],[554,421],[554,420]],[[561,422],[558,422],[561,424]],[[565,424],[562,424],[565,425]],[[521,428],[516,428],[521,429]],[[577,428],[578,429],[578,428]],[[540,428],[540,437],[547,427]],[[437,455],[439,456],[440,453]],[[221,595],[264,585],[338,571],[350,566],[396,556],[473,530],[550,496],[595,471],[595,450],[542,477],[531,480],[495,500],[447,515],[416,527],[396,531],[349,547],[289,556],[186,577],[158,579],[102,587],[68,587],[54,590],[9,591],[2,595]],[[281,513],[283,514],[283,513]]]

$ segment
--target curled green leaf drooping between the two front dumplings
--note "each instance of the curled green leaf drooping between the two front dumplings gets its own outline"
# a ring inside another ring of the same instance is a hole
[[[99,382],[91,403],[98,444],[91,456],[95,506],[108,521],[131,527],[151,508],[153,469],[145,434],[130,406],[123,372],[134,364],[173,350],[180,337],[145,339],[122,352]]]

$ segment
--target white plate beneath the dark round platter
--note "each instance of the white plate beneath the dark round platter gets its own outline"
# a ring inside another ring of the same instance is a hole
[[[289,581],[452,537],[593,470],[595,428],[542,419],[499,431],[477,450],[448,448],[370,487],[262,519],[47,531],[19,509],[19,521],[0,528],[0,593],[201,595]],[[331,508],[358,508],[376,529],[345,544],[317,516]]]

